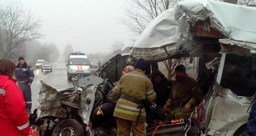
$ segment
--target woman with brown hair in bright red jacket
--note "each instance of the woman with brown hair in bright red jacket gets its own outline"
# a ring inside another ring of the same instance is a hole
[[[15,64],[0,59],[0,136],[29,136],[30,125],[20,88],[12,78]]]

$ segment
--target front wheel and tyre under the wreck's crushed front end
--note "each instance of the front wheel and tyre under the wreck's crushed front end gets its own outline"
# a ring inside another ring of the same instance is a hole
[[[52,136],[84,136],[84,129],[75,119],[65,119],[54,128]]]

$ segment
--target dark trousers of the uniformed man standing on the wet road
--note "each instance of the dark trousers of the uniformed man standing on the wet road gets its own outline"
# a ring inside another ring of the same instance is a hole
[[[26,102],[26,111],[31,111],[32,108],[32,99],[31,99],[31,88],[29,82],[18,83],[20,90],[24,94],[24,99]]]

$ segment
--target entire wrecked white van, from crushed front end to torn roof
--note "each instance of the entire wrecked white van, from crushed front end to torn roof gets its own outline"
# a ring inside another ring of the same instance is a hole
[[[204,99],[187,124],[150,126],[147,136],[242,136],[256,91],[254,17],[256,8],[213,0],[182,1],[149,24],[134,43],[131,58],[117,54],[64,91],[42,82],[38,111],[30,115],[30,124],[41,136],[115,136],[116,129],[93,128],[90,117],[113,88],[111,81],[121,77],[127,60],[144,58],[151,70],[157,68],[156,62],[192,57],[198,58],[197,80]]]

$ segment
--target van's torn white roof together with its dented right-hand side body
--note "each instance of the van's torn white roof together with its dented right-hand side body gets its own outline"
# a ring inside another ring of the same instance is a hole
[[[155,18],[134,43],[132,59],[198,58],[197,79],[206,95],[183,135],[244,135],[256,91],[255,17],[252,7],[185,0]],[[167,131],[159,128],[155,135]]]

